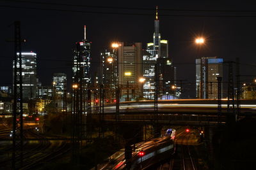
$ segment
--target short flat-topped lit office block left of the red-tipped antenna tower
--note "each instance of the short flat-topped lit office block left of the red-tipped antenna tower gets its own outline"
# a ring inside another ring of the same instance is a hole
[[[65,73],[54,73],[52,78],[55,94],[63,96],[67,84],[67,75]]]

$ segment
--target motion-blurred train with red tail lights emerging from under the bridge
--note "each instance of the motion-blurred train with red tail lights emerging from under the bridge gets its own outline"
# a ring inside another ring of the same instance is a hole
[[[166,131],[161,138],[155,138],[147,142],[131,145],[131,155],[129,147],[114,153],[106,162],[97,166],[97,169],[146,169],[161,160],[171,157],[175,153],[175,143],[173,136],[175,131]],[[127,153],[128,152],[128,153]]]

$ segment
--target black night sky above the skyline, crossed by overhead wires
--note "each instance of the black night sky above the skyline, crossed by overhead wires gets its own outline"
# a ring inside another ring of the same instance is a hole
[[[224,60],[235,60],[236,57],[240,57],[241,74],[255,75],[243,77],[241,80],[250,82],[256,78],[256,6],[252,4],[235,1],[165,1],[157,4],[149,1],[35,2],[59,5],[0,1],[0,86],[12,84],[14,48],[13,43],[6,42],[6,39],[13,39],[14,31],[11,24],[15,20],[20,20],[22,38],[27,39],[22,51],[37,53],[37,75],[42,85],[51,85],[53,73],[66,73],[70,84],[71,61],[74,55],[72,49],[76,41],[83,39],[83,25],[87,27],[87,39],[92,41],[94,73],[99,67],[100,52],[108,48],[111,42],[142,42],[144,48],[146,43],[152,42],[156,5],[159,6],[161,38],[169,40],[169,56],[174,66],[177,66],[177,79],[195,83],[195,59],[201,56],[218,56]],[[65,3],[77,6],[60,5]],[[118,8],[100,8],[102,6]],[[196,36],[204,36],[206,44],[198,48],[194,43]],[[227,70],[226,67],[224,71]],[[227,72],[224,74],[227,77]],[[187,91],[190,97],[195,96],[195,85],[191,85]]]

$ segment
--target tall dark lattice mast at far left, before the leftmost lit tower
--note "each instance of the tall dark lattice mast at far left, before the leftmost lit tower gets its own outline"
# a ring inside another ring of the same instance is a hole
[[[16,146],[20,144],[20,167],[23,164],[23,95],[22,95],[22,56],[20,21],[14,22],[14,80],[13,80],[13,134],[12,134],[12,169],[16,169]],[[17,67],[17,65],[19,67]],[[20,134],[17,135],[16,132]],[[20,143],[18,143],[20,139]]]

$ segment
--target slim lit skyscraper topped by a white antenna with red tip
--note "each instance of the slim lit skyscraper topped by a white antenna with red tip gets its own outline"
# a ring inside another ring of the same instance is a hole
[[[76,50],[74,50],[74,62],[73,62],[73,75],[72,81],[76,80],[76,77],[82,76],[83,89],[87,89],[91,83],[91,45],[92,42],[86,39],[86,26],[84,25],[84,39],[76,42]],[[79,71],[82,69],[82,73]]]

